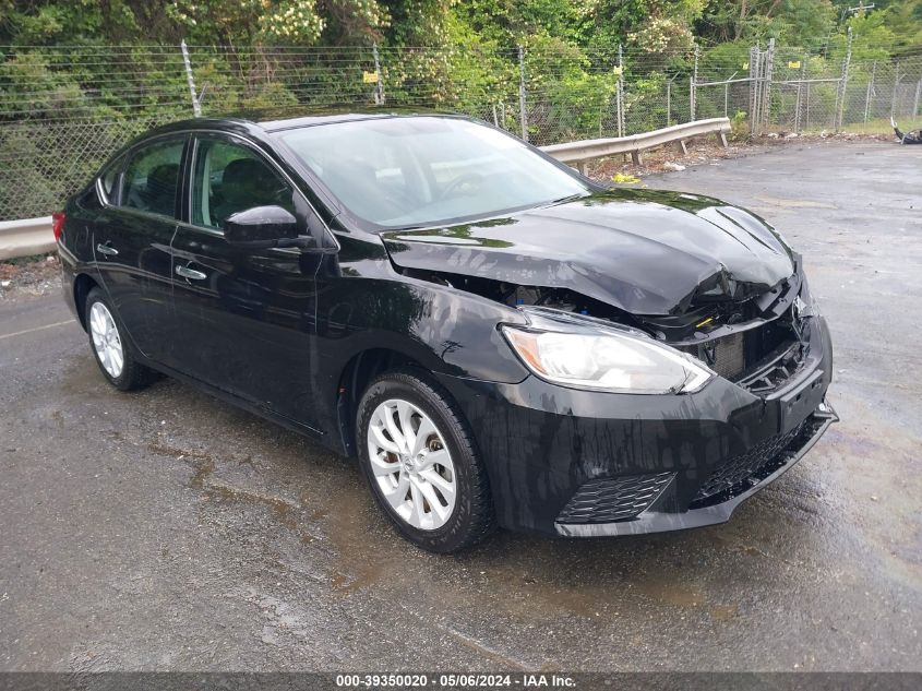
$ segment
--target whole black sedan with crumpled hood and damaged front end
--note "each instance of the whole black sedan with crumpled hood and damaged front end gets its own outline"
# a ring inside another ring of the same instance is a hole
[[[166,373],[358,456],[434,551],[719,523],[836,419],[769,225],[466,118],[178,122],[55,233],[111,384]]]

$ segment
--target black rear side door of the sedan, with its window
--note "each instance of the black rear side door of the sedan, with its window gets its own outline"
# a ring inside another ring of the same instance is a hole
[[[103,284],[129,337],[145,356],[168,361],[172,309],[170,242],[188,138],[172,135],[129,152],[93,228]],[[115,178],[115,179],[112,179]]]

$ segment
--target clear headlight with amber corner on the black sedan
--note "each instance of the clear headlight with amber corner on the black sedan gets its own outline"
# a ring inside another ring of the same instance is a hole
[[[690,355],[627,329],[582,333],[539,331],[503,324],[503,334],[541,379],[620,393],[687,393],[715,376]]]

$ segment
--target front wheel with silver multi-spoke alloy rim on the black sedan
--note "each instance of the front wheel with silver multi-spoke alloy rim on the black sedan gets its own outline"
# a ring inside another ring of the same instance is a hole
[[[410,371],[379,377],[359,402],[356,434],[375,500],[412,544],[453,552],[492,531],[487,472],[441,386]]]

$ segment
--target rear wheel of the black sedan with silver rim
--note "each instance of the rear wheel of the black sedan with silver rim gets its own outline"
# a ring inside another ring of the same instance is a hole
[[[83,313],[96,365],[112,386],[133,391],[155,379],[153,370],[135,359],[124,326],[101,289],[93,288],[87,293]]]

